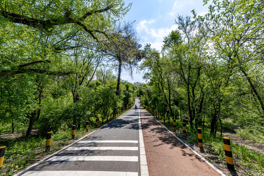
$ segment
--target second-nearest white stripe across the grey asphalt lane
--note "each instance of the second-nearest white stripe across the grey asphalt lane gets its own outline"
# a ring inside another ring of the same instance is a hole
[[[138,161],[138,156],[53,156],[47,161]]]

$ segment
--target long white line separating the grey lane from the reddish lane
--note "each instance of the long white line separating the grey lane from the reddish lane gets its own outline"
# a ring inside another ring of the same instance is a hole
[[[138,99],[137,99],[137,107],[138,107]],[[149,169],[148,169],[148,163],[145,153],[139,108],[138,108],[138,126],[139,126],[138,129],[139,129],[139,152],[140,152],[140,176],[149,176]]]

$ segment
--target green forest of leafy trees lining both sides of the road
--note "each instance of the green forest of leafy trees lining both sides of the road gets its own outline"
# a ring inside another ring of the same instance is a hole
[[[234,159],[242,175],[262,176],[264,2],[203,2],[211,4],[207,14],[178,15],[178,29],[158,51],[142,46],[133,22],[122,20],[132,6],[124,0],[1,0],[0,146],[7,146],[7,164],[0,174],[44,156],[38,150],[46,132],[59,150],[72,125],[80,137],[86,121],[92,131],[96,119],[102,125],[140,97],[179,129],[186,121],[187,142],[202,128],[208,151],[219,155],[212,162],[224,160],[226,133],[258,144],[251,151],[234,143]],[[147,72],[146,83],[121,79],[122,71],[138,70]]]

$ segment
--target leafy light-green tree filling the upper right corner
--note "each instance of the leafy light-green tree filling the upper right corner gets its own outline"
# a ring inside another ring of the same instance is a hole
[[[263,12],[262,0],[215,0],[204,17],[196,16],[194,12],[200,25],[210,31],[213,49],[227,67],[224,84],[228,84],[234,71],[242,73],[259,102],[262,119],[264,102],[261,95],[264,92],[258,88],[258,80],[254,77],[258,74],[255,70],[262,70],[263,63]]]

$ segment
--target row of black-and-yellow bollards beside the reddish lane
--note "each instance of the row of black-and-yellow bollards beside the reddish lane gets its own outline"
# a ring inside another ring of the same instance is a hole
[[[163,123],[165,123],[165,120],[166,120],[165,115],[163,115],[161,113],[153,112],[152,110],[149,110],[146,107],[144,107],[144,108],[146,110],[150,111],[151,113],[153,113],[158,120],[162,120],[162,117],[163,117]],[[170,117],[168,117],[168,126],[170,126]],[[176,131],[176,119],[175,118],[173,119],[173,127],[174,127],[174,131]],[[198,132],[198,146],[199,146],[201,151],[204,151],[203,150],[203,143],[202,143],[201,128],[197,128],[197,132]],[[186,137],[186,123],[185,122],[182,123],[182,135],[184,137]],[[227,168],[234,170],[235,167],[234,167],[234,161],[233,161],[233,156],[232,156],[232,151],[231,151],[230,139],[228,137],[223,137],[223,144],[224,144],[224,152],[225,152],[225,159],[226,159],[226,163],[227,163]]]

